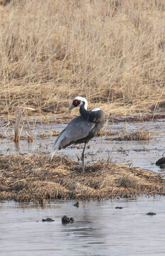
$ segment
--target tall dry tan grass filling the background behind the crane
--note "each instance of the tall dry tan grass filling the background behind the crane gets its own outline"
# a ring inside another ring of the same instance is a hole
[[[1,116],[62,113],[75,95],[108,115],[164,105],[164,0],[13,0],[0,12]]]

